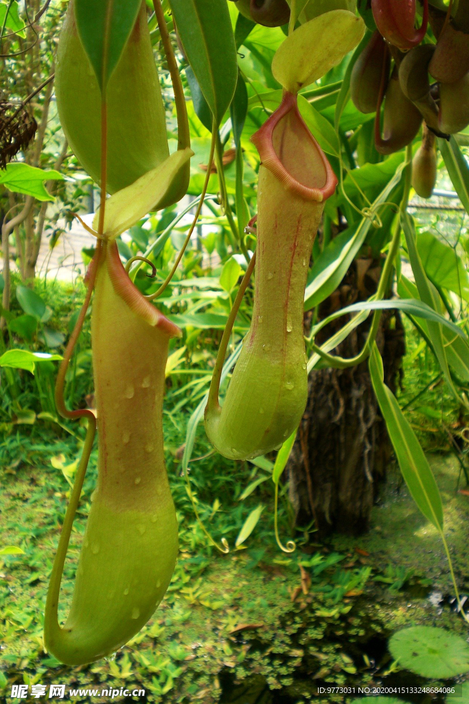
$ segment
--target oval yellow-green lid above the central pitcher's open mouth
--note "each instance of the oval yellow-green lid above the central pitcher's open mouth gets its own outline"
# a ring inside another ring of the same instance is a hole
[[[272,61],[272,73],[285,89],[297,93],[338,65],[364,31],[364,21],[347,10],[319,15],[285,39]]]

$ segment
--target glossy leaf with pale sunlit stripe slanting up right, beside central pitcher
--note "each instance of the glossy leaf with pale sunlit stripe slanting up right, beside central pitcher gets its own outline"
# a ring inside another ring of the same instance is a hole
[[[402,169],[398,168],[392,178],[374,201],[372,209],[378,210],[381,203],[387,201],[394,187],[401,180]],[[312,280],[304,291],[304,310],[318,306],[338,287],[354,260],[356,253],[364,243],[371,227],[371,218],[361,218],[355,232],[347,228],[333,239],[314,262],[311,270]]]

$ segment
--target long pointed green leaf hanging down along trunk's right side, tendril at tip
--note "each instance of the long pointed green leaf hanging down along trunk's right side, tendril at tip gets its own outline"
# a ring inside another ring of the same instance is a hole
[[[394,394],[384,383],[383,361],[376,344],[373,344],[368,365],[371,383],[385,419],[402,476],[425,518],[428,518],[437,529],[442,530],[443,505],[435,477],[416,434],[399,408]]]

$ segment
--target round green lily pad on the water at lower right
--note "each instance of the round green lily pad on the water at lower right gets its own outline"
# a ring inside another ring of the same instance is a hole
[[[442,628],[414,626],[397,631],[389,648],[399,665],[422,677],[446,679],[469,672],[469,644]]]

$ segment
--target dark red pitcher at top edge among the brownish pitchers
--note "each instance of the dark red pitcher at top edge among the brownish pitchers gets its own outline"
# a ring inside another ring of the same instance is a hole
[[[428,0],[423,0],[422,25],[416,30],[416,0],[371,0],[376,26],[399,49],[420,44],[428,26]]]

